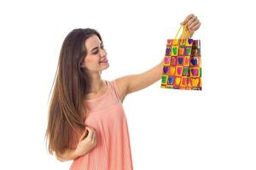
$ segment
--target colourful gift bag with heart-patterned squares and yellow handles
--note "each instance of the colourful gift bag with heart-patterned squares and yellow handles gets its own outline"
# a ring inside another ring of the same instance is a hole
[[[176,35],[167,40],[161,88],[201,90],[200,40],[184,39],[184,34],[189,37],[187,26],[183,26],[181,39]]]

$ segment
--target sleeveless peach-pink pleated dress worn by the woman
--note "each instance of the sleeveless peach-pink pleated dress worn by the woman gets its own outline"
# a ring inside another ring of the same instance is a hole
[[[88,109],[85,125],[95,129],[96,147],[73,160],[70,170],[133,169],[129,132],[118,88],[114,81],[107,81],[107,85],[105,94],[84,102]]]

